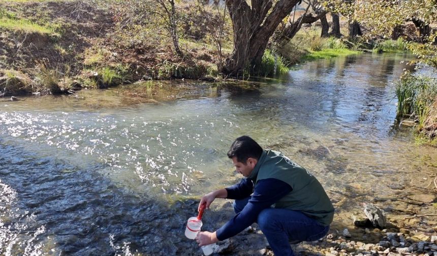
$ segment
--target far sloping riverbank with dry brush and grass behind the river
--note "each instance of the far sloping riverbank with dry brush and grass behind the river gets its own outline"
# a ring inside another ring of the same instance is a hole
[[[142,21],[131,13],[134,6],[78,0],[0,5],[0,94],[4,97],[74,93],[148,80],[223,81],[217,60],[232,52],[232,24],[213,7],[178,6],[183,53],[179,55],[165,24]],[[221,22],[220,38],[215,38],[216,24]],[[296,63],[359,53],[339,39],[320,39],[316,34],[313,28],[302,28],[284,49],[267,50],[259,75],[271,77],[287,73]]]

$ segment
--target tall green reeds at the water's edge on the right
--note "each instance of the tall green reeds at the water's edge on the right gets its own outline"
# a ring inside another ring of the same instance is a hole
[[[420,130],[428,115],[429,106],[437,96],[437,81],[434,78],[404,74],[396,83],[398,100],[396,119],[414,116]]]

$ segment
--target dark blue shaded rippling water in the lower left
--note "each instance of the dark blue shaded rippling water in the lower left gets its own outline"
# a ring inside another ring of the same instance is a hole
[[[100,164],[80,169],[2,141],[0,162],[0,254],[199,254],[183,236],[196,201],[169,206],[114,185]],[[210,225],[223,218],[205,215]]]

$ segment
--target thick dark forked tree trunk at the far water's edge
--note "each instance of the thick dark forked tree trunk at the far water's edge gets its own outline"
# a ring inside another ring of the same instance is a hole
[[[269,12],[272,8],[270,0],[252,0],[252,7],[245,0],[226,0],[233,25],[234,49],[222,72],[239,76],[248,65],[251,71],[257,70],[269,38],[298,2],[279,0]]]

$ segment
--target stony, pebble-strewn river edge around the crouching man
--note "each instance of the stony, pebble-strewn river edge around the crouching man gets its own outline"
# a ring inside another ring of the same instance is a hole
[[[339,223],[345,223],[347,220],[338,219],[341,217],[336,214],[331,230],[325,238],[313,242],[293,244],[292,248],[296,255],[437,255],[437,221],[434,220],[435,216],[432,214],[435,209],[434,204],[432,204],[434,197],[432,195],[418,195],[413,198],[417,201],[410,199],[408,205],[417,207],[417,210],[431,213],[411,216],[386,213],[387,226],[384,229],[354,227],[353,215],[349,221],[350,226],[341,228]],[[392,201],[396,200],[392,199]],[[399,205],[405,206],[404,204]],[[407,208],[413,209],[408,206]],[[390,210],[391,208],[386,205],[386,209]],[[395,211],[392,209],[392,212]],[[205,220],[205,230],[212,231],[212,226],[219,228],[220,222],[226,222],[233,215],[231,201],[215,205],[207,215],[209,217]],[[363,212],[362,216],[364,217],[364,215]],[[218,221],[208,223],[213,219]],[[273,251],[266,245],[264,235],[256,223],[237,236],[217,243],[214,251],[221,255],[274,255]]]

